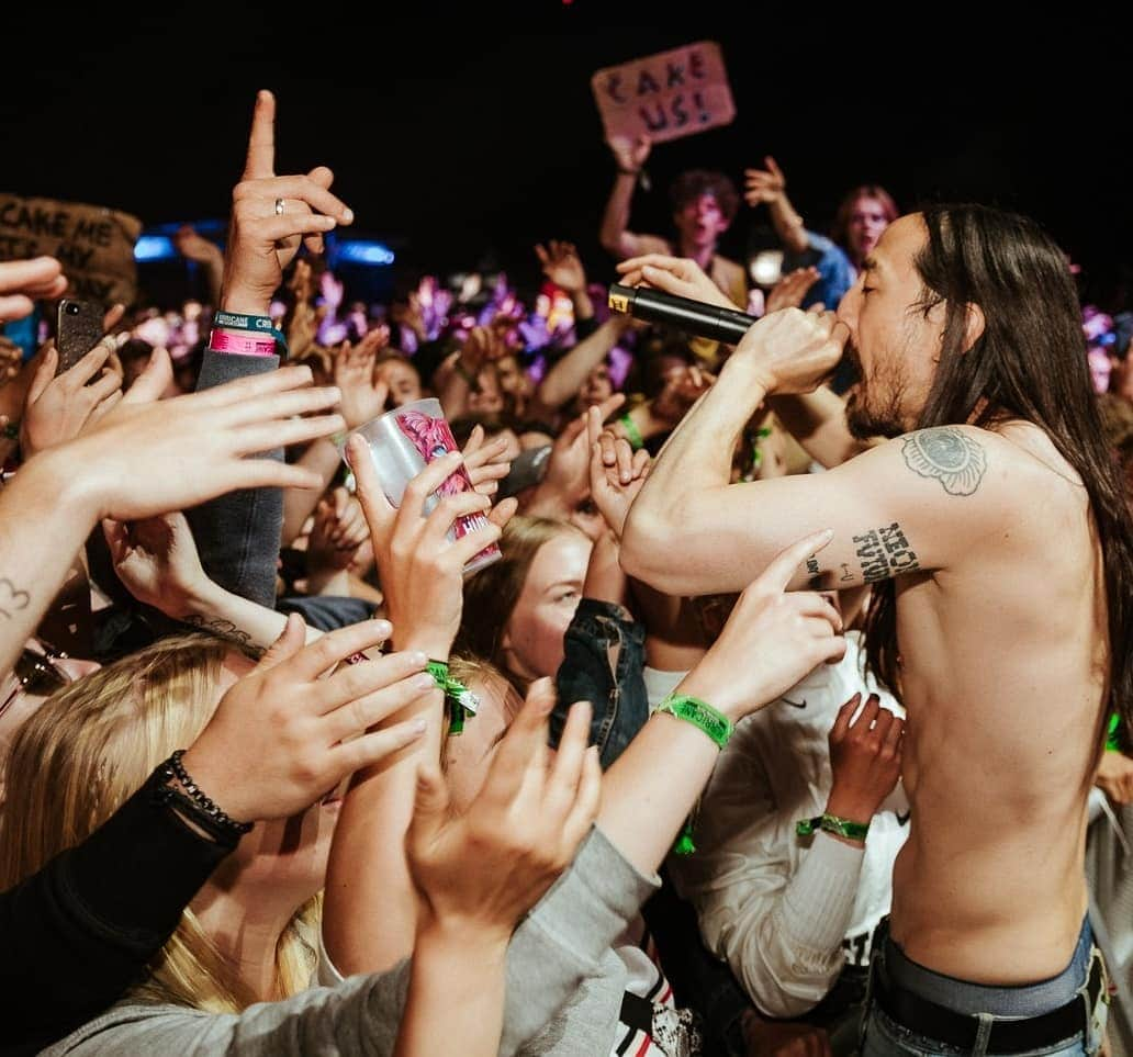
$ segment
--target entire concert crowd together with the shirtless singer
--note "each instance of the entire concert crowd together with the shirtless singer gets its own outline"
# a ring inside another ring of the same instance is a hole
[[[68,365],[0,263],[0,1051],[1133,1054],[1121,306],[773,157],[634,232],[646,138],[530,304],[349,300],[274,119],[205,299]],[[358,431],[427,399],[395,495]]]

